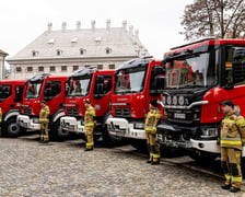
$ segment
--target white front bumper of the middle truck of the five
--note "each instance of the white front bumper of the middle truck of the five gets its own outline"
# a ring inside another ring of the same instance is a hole
[[[69,132],[84,134],[84,126],[81,125],[81,120],[77,120],[75,117],[65,116],[60,118],[61,129]]]

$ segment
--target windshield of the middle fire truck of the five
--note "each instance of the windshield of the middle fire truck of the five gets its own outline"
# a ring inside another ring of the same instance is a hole
[[[91,78],[72,79],[68,96],[86,96],[90,92]]]

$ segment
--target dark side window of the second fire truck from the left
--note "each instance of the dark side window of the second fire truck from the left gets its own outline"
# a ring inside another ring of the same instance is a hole
[[[61,92],[61,82],[60,81],[48,81],[45,85],[45,94],[49,99],[56,97]]]

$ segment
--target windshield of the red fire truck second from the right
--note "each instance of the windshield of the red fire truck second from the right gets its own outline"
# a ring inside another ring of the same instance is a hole
[[[116,76],[115,94],[139,93],[144,86],[147,67],[119,70]]]

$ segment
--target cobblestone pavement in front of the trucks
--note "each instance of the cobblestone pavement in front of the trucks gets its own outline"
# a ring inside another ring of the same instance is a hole
[[[37,136],[0,138],[0,196],[202,197],[244,196],[220,188],[222,178],[163,159],[145,163],[133,149],[81,140],[39,144]]]

